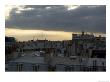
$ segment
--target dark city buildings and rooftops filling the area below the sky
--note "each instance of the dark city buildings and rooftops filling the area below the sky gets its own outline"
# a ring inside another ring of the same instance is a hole
[[[106,37],[84,31],[66,41],[5,37],[5,53],[5,71],[106,71]]]

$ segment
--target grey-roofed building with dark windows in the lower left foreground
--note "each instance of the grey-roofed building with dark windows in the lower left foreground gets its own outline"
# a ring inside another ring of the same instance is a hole
[[[10,61],[7,71],[48,71],[48,64],[44,57],[25,53],[25,55],[21,54],[20,57]]]

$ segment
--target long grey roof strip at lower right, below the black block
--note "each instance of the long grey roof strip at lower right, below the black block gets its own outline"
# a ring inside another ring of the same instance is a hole
[[[67,57],[54,57],[51,60],[51,64],[64,64],[64,65],[87,65],[87,66],[93,66],[93,61],[97,61],[97,66],[102,66],[102,62],[105,64],[105,59],[103,58],[84,58],[82,62],[79,61],[79,59],[69,59]]]

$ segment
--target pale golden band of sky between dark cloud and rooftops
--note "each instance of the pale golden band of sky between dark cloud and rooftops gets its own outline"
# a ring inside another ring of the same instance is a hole
[[[72,32],[45,31],[45,30],[22,30],[22,29],[6,28],[5,35],[16,37],[20,41],[30,40],[33,37],[36,37],[36,39],[47,38],[49,40],[70,40],[72,37],[71,36]]]

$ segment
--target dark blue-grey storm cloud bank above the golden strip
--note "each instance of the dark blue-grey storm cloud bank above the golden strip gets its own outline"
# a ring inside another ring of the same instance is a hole
[[[20,13],[17,11],[17,8],[11,10],[5,22],[7,28],[106,32],[106,6],[79,6],[67,10],[58,5],[26,5]]]

